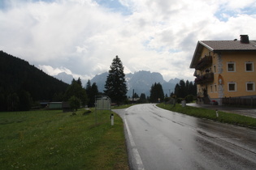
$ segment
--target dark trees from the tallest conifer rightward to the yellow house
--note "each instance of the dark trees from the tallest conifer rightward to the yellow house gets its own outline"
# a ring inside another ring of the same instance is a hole
[[[124,66],[116,56],[111,64],[111,70],[109,70],[109,74],[106,78],[106,91],[105,94],[110,96],[111,99],[117,104],[120,103],[128,103],[128,98],[126,93],[128,91],[125,81],[124,74]],[[160,83],[154,83],[150,89],[150,96],[146,97],[144,93],[141,94],[140,100],[138,103],[146,103],[146,102],[159,102],[163,101],[165,98],[175,97],[179,100],[187,100],[192,101],[197,93],[197,85],[193,82],[189,82],[187,80],[180,80],[180,83],[176,84],[175,91],[171,93],[171,96],[164,96],[163,87]],[[138,98],[137,93],[134,93],[132,99]],[[179,101],[178,100],[178,101]]]

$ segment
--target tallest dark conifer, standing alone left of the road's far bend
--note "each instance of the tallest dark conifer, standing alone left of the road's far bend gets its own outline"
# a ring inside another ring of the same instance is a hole
[[[105,84],[105,93],[112,102],[122,103],[126,99],[127,86],[125,81],[124,66],[118,56],[115,56],[108,71]]]

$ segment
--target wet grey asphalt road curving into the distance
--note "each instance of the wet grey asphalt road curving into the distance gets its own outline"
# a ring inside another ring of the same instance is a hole
[[[125,123],[132,169],[256,169],[256,130],[155,104],[113,110]]]

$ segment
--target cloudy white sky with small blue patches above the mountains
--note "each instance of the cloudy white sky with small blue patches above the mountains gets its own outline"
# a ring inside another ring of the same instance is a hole
[[[193,81],[198,40],[256,40],[255,26],[255,0],[0,0],[0,50],[75,79],[118,55],[124,73]]]

